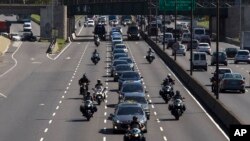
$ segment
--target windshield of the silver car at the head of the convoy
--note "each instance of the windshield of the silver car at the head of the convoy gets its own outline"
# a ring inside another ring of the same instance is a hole
[[[117,115],[143,115],[143,110],[140,107],[120,107]]]

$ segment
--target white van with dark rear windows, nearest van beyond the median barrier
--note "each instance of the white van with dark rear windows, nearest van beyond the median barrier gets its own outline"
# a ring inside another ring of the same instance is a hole
[[[204,69],[207,71],[207,56],[205,52],[193,52],[193,69]]]

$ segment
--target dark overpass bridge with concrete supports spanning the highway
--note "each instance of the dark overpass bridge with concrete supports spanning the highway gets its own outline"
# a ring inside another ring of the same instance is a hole
[[[210,23],[216,16],[217,0],[196,0],[194,16],[210,16]],[[1,0],[0,14],[39,14],[41,15],[41,36],[49,36],[49,28],[57,27],[59,36],[66,38],[69,33],[74,31],[74,15],[156,15],[163,14],[158,10],[159,0],[54,0],[54,3],[37,3],[35,0]],[[242,0],[242,4],[250,4],[249,0]],[[52,5],[54,10],[52,10]],[[220,0],[220,33],[231,30],[232,27],[239,27],[238,23],[233,22],[239,18],[239,0]],[[128,10],[129,9],[129,10]],[[250,9],[250,8],[249,8]],[[57,19],[52,25],[52,16]],[[228,14],[230,13],[230,14]],[[166,14],[175,14],[168,11]],[[190,12],[178,11],[179,15],[190,15]],[[244,17],[244,16],[243,16]],[[45,20],[46,19],[46,20]],[[245,18],[245,21],[247,17]],[[234,25],[227,21],[233,22]],[[238,21],[238,20],[236,20]],[[229,24],[227,26],[227,24]],[[69,26],[68,26],[69,25]],[[211,24],[211,29],[213,28]],[[250,28],[250,27],[249,27]],[[61,30],[63,29],[63,30]],[[237,31],[236,29],[232,32]],[[239,30],[238,30],[239,31]],[[68,33],[67,33],[68,32]]]

